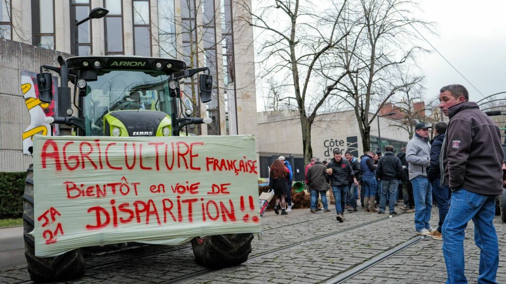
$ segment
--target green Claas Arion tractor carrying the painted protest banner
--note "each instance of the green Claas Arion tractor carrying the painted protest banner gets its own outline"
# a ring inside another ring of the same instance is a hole
[[[60,76],[55,104],[58,113],[46,117],[59,135],[77,136],[178,136],[190,124],[209,123],[209,118],[191,117],[190,104],[180,95],[180,82],[207,68],[187,69],[183,61],[144,57],[83,56],[64,60],[60,67],[41,66],[37,74],[39,99],[53,101],[52,73]],[[68,82],[73,83],[73,96]],[[199,97],[209,102],[213,77],[199,75]],[[73,106],[73,107],[72,107]],[[76,110],[77,115],[73,116]],[[186,128],[187,129],[187,128]],[[186,131],[187,135],[188,131]],[[33,166],[25,181],[23,219],[28,272],[34,281],[66,280],[83,272],[82,249],[56,257],[34,253]],[[252,233],[201,236],[191,240],[196,261],[220,268],[240,264],[251,252]]]

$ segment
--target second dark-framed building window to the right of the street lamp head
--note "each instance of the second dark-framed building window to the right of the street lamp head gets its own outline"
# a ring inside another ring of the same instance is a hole
[[[149,1],[134,0],[134,54],[151,56],[151,21],[149,17]]]

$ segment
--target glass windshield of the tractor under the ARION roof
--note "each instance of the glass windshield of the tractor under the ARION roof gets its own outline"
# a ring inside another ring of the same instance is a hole
[[[102,136],[103,117],[111,111],[156,110],[172,115],[169,77],[152,70],[103,70],[89,81],[82,112],[87,136]]]

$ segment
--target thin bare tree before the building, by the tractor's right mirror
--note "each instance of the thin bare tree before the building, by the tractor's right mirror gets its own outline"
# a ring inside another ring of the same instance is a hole
[[[218,2],[217,2],[218,3]],[[231,49],[231,42],[226,36],[231,33],[231,17],[226,17],[222,12],[230,11],[230,5],[222,1],[220,7],[215,7],[213,1],[204,0],[181,0],[181,13],[175,13],[175,7],[171,5],[158,5],[158,37],[151,34],[152,39],[160,46],[160,56],[170,56],[185,61],[188,68],[208,67],[211,74],[218,74],[217,55],[221,53],[221,46]],[[221,11],[225,10],[225,11]],[[220,17],[222,16],[222,17]],[[220,21],[222,27],[219,29]],[[215,32],[216,31],[216,32]],[[218,36],[217,36],[218,35]],[[229,45],[227,45],[227,44]],[[233,53],[233,51],[230,51]],[[224,55],[225,56],[225,55]],[[233,62],[227,61],[226,74],[233,80]],[[215,77],[213,84],[218,90],[218,78]],[[187,96],[193,109],[192,116],[201,115],[200,103],[197,96],[197,75],[186,79],[184,82],[184,95]],[[225,82],[224,84],[226,84]],[[221,89],[224,86],[221,85]],[[223,91],[222,91],[223,92]],[[217,101],[223,101],[219,93],[214,93]],[[210,103],[208,103],[210,104]],[[194,132],[199,134],[198,127]]]

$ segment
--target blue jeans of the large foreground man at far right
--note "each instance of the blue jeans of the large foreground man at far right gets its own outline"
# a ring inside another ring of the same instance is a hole
[[[464,275],[464,237],[473,220],[475,244],[480,248],[478,283],[497,283],[499,246],[493,224],[495,197],[461,188],[451,194],[451,206],[443,224],[443,255],[448,273],[447,284],[467,283]]]

